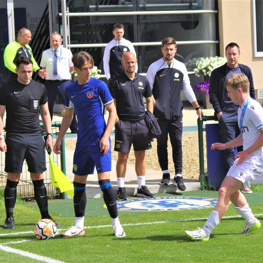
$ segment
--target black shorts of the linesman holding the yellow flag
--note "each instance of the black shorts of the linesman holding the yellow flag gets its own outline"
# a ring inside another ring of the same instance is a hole
[[[30,173],[42,173],[46,169],[45,142],[40,132],[6,133],[6,173],[22,173],[26,159]]]

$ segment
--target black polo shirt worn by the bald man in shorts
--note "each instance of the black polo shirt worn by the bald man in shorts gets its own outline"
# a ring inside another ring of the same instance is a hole
[[[146,77],[136,73],[134,79],[130,80],[123,72],[109,83],[109,89],[112,97],[116,99],[119,119],[137,121],[144,118],[143,97],[152,96]]]

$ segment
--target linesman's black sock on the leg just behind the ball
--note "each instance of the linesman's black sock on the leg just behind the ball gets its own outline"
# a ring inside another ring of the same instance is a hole
[[[49,218],[48,214],[48,196],[47,189],[44,185],[44,179],[41,180],[32,180],[34,185],[34,196],[41,213],[41,218]]]

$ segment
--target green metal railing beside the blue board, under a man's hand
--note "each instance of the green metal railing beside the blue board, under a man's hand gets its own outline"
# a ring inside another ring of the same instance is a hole
[[[204,137],[203,132],[205,128],[203,128],[203,123],[208,120],[218,121],[216,116],[202,116],[202,120],[197,119],[197,127],[198,127],[198,146],[199,146],[199,180],[201,190],[205,190],[205,182],[207,181],[207,173],[205,173],[205,164],[204,164]]]

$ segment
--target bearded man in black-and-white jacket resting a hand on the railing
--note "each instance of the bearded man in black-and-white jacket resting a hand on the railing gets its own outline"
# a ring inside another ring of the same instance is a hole
[[[157,139],[157,154],[163,171],[161,185],[170,184],[167,152],[169,133],[175,168],[173,184],[177,185],[179,190],[184,191],[186,188],[182,177],[183,104],[180,98],[181,89],[183,89],[186,98],[196,109],[200,119],[203,113],[191,88],[185,65],[174,59],[176,53],[175,40],[170,37],[165,38],[162,41],[161,51],[163,58],[152,63],[146,74],[153,92],[153,114],[158,119],[162,131],[161,137]]]

